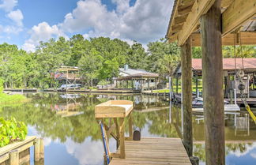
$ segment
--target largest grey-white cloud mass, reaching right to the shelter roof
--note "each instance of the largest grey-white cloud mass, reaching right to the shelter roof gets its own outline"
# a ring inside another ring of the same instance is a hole
[[[100,0],[80,0],[72,13],[66,14],[59,27],[65,32],[90,31],[88,35],[132,39],[142,43],[164,37],[171,13],[168,0],[112,0],[116,11],[108,11]]]

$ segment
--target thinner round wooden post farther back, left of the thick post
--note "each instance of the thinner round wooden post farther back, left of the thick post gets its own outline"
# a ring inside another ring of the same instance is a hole
[[[193,156],[192,133],[192,51],[190,37],[181,46],[182,95],[183,95],[183,143],[188,156]]]

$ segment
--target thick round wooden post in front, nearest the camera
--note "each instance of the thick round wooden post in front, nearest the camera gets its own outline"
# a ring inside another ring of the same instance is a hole
[[[201,49],[206,164],[224,165],[224,93],[220,0],[216,0],[208,12],[201,16]]]

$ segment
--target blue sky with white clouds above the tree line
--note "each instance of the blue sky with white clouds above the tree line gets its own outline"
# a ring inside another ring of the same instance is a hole
[[[0,43],[34,51],[74,34],[146,44],[165,36],[173,0],[0,0]]]

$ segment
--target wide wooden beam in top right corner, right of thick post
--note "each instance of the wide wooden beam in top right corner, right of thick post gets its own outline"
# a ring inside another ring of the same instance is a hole
[[[234,0],[222,13],[222,36],[239,28],[256,14],[256,0]]]

